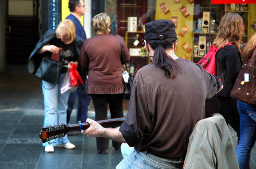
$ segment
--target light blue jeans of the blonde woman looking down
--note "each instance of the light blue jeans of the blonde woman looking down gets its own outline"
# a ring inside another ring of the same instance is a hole
[[[54,84],[42,81],[42,91],[44,94],[44,126],[54,126],[54,124],[67,123],[67,108],[69,93],[60,93],[60,88],[66,73],[60,75],[60,80],[54,88]],[[52,89],[49,89],[52,88]],[[49,142],[49,141],[48,141]],[[43,146],[56,146],[69,142],[67,134],[61,139],[51,140],[52,144],[43,143]]]

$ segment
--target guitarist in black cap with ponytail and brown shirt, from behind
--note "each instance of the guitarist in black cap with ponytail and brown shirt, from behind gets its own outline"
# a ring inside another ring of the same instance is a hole
[[[222,82],[201,65],[175,55],[178,38],[172,21],[154,20],[145,30],[143,42],[153,62],[134,77],[125,121],[104,128],[87,119],[90,127],[82,132],[127,143],[121,146],[124,159],[116,169],[182,169],[193,128],[205,118],[205,100]]]

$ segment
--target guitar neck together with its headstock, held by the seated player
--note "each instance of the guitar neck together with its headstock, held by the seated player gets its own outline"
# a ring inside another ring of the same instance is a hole
[[[118,127],[125,121],[125,118],[117,118],[117,119],[107,119],[97,121],[100,125],[105,128]],[[47,126],[42,127],[42,130],[39,133],[39,138],[43,143],[64,137],[69,131],[81,131],[88,129],[90,124],[88,123],[79,123],[78,124],[60,124],[56,126]]]

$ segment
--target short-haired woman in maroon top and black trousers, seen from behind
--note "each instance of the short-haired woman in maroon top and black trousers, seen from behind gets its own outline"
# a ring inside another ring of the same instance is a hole
[[[123,76],[120,61],[121,48],[115,35],[109,34],[110,17],[100,13],[93,18],[96,36],[84,41],[80,51],[81,68],[88,70],[88,94],[91,95],[95,120],[107,119],[107,103],[111,118],[123,117]],[[130,60],[128,48],[123,38],[117,35],[123,47],[125,60]],[[97,138],[97,150],[108,153],[108,139]],[[112,142],[116,150],[120,143]]]

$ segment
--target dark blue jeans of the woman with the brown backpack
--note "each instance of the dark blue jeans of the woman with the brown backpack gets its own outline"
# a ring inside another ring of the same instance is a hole
[[[240,140],[236,149],[240,169],[244,169],[256,141],[256,106],[238,101]]]

